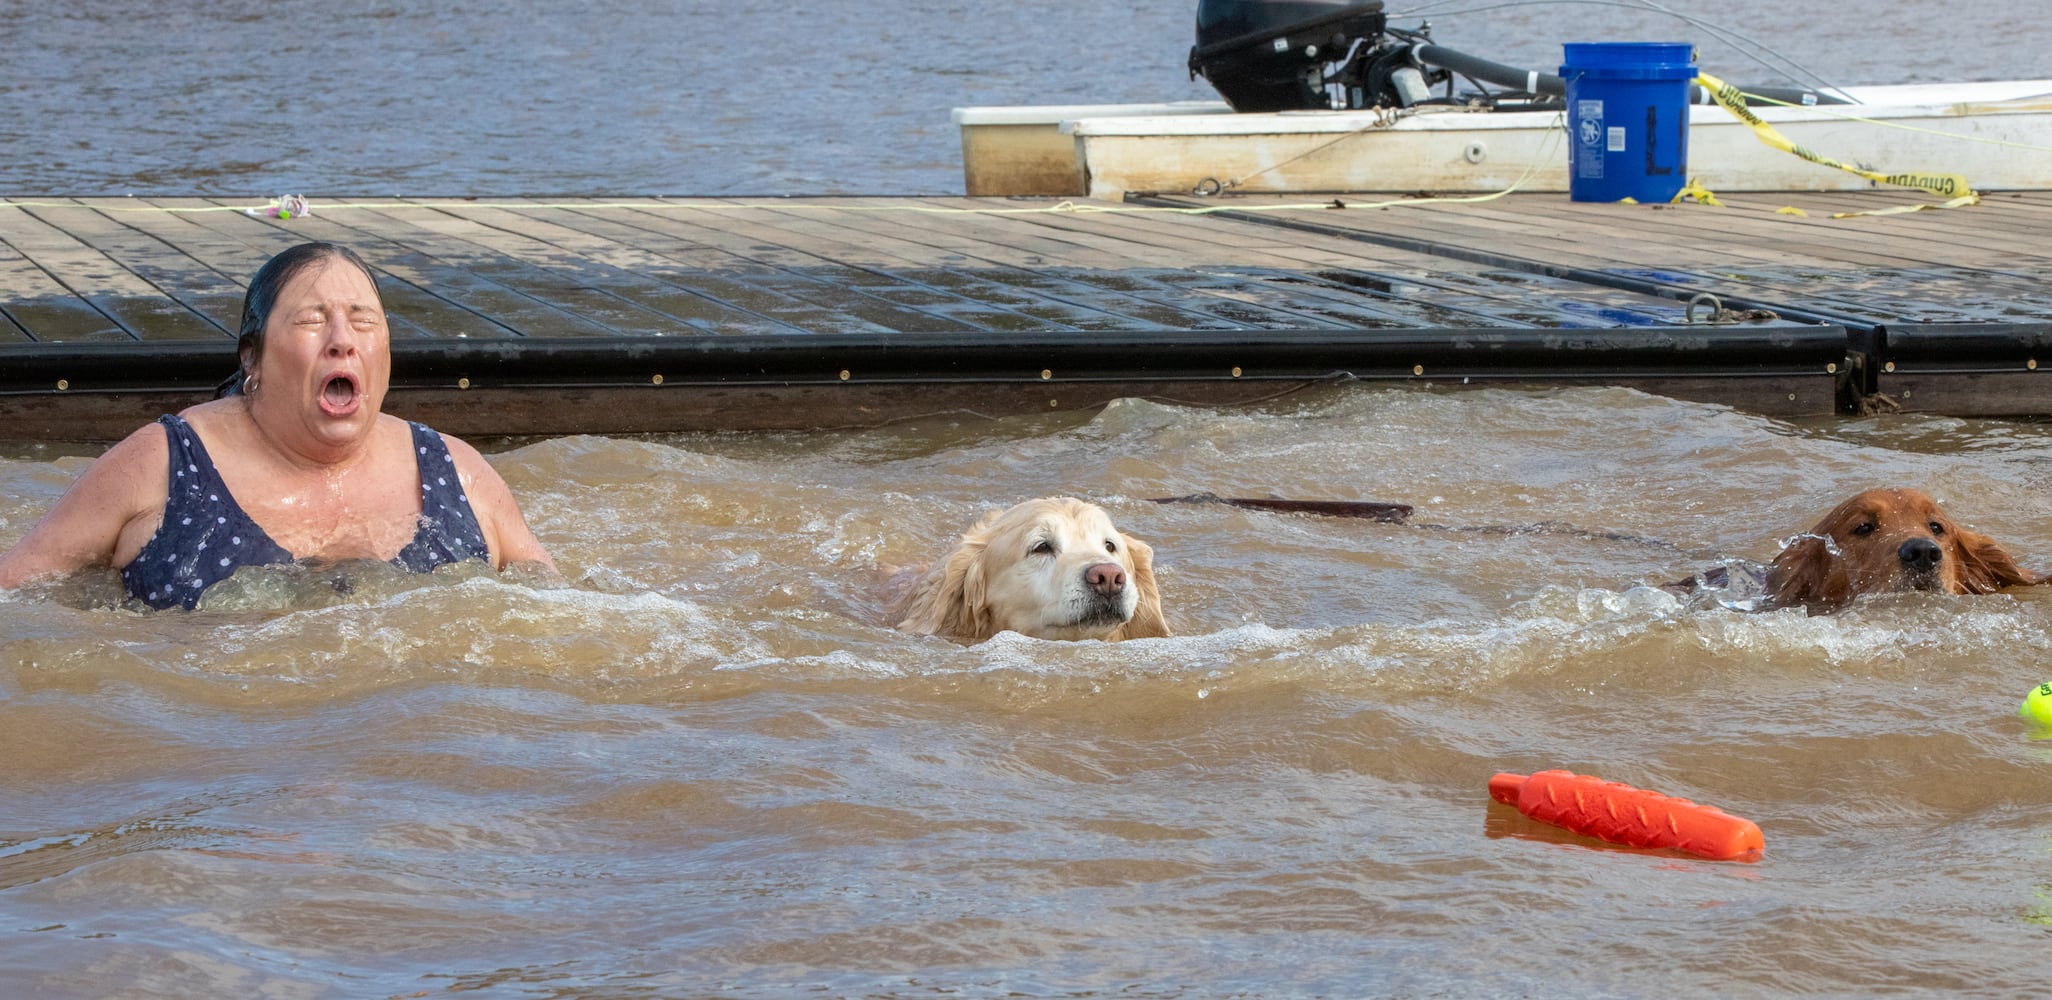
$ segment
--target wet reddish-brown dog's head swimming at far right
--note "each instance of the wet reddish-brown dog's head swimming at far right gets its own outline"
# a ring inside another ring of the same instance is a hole
[[[1837,610],[1861,593],[1995,593],[2044,583],[1992,538],[1968,532],[1915,489],[1869,489],[1796,536],[1767,569],[1779,608]]]

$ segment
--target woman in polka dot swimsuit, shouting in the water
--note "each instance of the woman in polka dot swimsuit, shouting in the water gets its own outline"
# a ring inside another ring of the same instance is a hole
[[[105,565],[152,608],[193,608],[238,567],[554,561],[476,448],[382,413],[392,339],[369,267],[304,242],[242,298],[224,398],[164,415],[94,460],[0,552],[0,589]]]

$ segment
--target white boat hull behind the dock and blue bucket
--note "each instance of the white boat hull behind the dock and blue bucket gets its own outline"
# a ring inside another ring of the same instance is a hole
[[[1980,191],[2052,189],[2052,80],[1849,88],[1859,105],[1761,107],[1791,142],[1880,172],[1964,175]],[[1248,193],[1568,191],[1562,113],[1461,109],[1282,111],[1233,115],[1223,105],[1176,113],[1073,115],[1042,123],[1069,142],[1042,154],[1067,164],[1061,193],[1118,199],[1129,191]],[[964,177],[977,113],[958,109]],[[1012,109],[1018,125],[1032,109]],[[1929,131],[1919,131],[1929,129]],[[1943,136],[1935,136],[1943,133]],[[991,170],[983,170],[991,177]],[[1709,191],[1853,191],[1871,181],[1761,142],[1722,107],[1693,107],[1689,177]],[[1001,187],[1001,185],[997,185]]]

